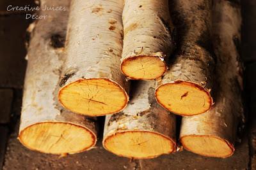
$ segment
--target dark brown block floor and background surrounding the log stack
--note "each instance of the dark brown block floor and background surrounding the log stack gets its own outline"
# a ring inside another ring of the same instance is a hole
[[[244,89],[248,121],[236,152],[227,159],[189,152],[151,160],[129,160],[106,152],[100,140],[89,152],[59,158],[32,152],[17,140],[22,85],[26,71],[26,13],[8,12],[6,6],[35,6],[33,0],[0,1],[0,168],[3,169],[256,169],[256,0],[242,1],[241,50],[245,66]],[[235,99],[234,99],[235,100]]]

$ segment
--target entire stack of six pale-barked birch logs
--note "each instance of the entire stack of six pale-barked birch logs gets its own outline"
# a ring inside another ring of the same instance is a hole
[[[106,115],[102,144],[122,157],[153,158],[180,144],[208,157],[234,153],[243,117],[238,1],[41,6],[52,3],[65,11],[42,10],[47,17],[28,28],[24,146],[59,155],[90,150],[96,117]]]

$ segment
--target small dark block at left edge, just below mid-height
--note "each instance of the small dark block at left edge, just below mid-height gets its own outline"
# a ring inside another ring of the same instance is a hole
[[[8,124],[10,122],[12,99],[12,89],[0,89],[0,124]]]

